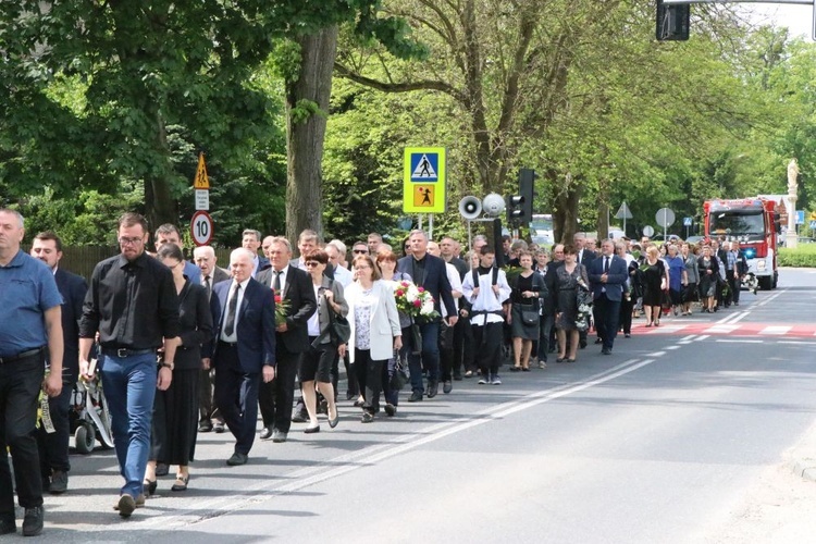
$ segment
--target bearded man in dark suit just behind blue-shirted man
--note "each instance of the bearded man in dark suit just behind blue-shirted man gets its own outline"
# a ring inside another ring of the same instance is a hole
[[[62,393],[48,399],[50,424],[42,421],[37,435],[39,461],[42,469],[42,489],[59,495],[67,491],[69,442],[71,422],[69,409],[74,384],[79,374],[79,319],[83,316],[83,301],[88,290],[84,277],[59,268],[62,259],[62,240],[52,232],[42,232],[34,237],[32,257],[51,269],[57,288],[62,295]],[[52,432],[49,432],[52,431]]]

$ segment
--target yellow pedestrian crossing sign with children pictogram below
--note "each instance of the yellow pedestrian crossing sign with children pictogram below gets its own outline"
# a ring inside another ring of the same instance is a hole
[[[403,211],[408,213],[444,213],[445,189],[445,148],[406,148],[403,174]]]

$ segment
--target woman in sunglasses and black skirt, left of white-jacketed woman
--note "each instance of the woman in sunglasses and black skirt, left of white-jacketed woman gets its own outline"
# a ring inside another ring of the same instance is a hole
[[[311,434],[320,432],[318,423],[318,395],[314,390],[323,395],[329,404],[329,426],[337,426],[339,415],[334,401],[334,385],[332,385],[332,362],[334,354],[345,350],[346,345],[337,345],[327,333],[332,320],[330,312],[335,316],[346,317],[348,304],[343,296],[343,285],[323,275],[329,255],[321,250],[314,250],[305,256],[306,270],[311,276],[314,298],[318,300],[318,311],[308,321],[309,344],[311,347],[300,356],[297,375],[300,378],[304,392],[304,403],[309,413],[309,425],[304,430]]]

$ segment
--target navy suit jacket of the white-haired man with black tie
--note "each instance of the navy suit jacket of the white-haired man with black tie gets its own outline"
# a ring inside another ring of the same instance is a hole
[[[218,323],[212,335],[213,364],[218,368],[218,339],[224,326],[226,300],[233,282],[221,282],[212,288],[210,307],[212,322]],[[272,292],[250,279],[238,308],[235,332],[238,336],[238,361],[247,374],[261,371],[264,364],[275,364],[275,301]]]

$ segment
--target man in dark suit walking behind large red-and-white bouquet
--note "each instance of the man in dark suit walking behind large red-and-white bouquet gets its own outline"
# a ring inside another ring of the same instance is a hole
[[[411,245],[411,255],[403,257],[397,262],[397,270],[409,274],[413,283],[422,286],[433,296],[436,311],[442,308],[440,300],[447,309],[447,325],[454,326],[459,320],[456,302],[452,295],[450,282],[447,280],[445,261],[438,257],[428,254],[428,235],[423,231],[411,231],[408,238]],[[422,359],[419,356],[409,356],[411,373],[411,390],[413,391],[409,403],[422,400],[422,367],[428,371],[428,398],[436,396],[440,386],[440,322],[433,320],[420,324],[422,334]]]

